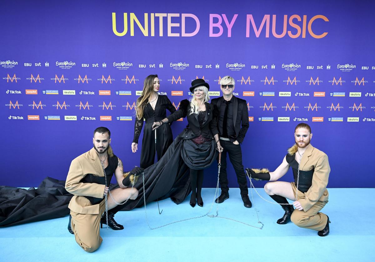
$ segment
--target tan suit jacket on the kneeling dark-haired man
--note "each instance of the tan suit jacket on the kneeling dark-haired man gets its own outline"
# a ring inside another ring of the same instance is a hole
[[[105,185],[80,182],[87,174],[104,176],[99,156],[94,148],[73,159],[71,163],[65,189],[74,196],[68,207],[80,214],[99,214],[99,204],[92,205],[89,199],[84,196],[102,198]]]

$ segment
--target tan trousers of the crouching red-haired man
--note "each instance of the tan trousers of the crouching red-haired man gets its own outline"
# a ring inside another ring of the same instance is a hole
[[[296,184],[294,182],[291,182],[291,185],[293,194],[296,195]],[[299,199],[305,198],[305,194],[303,194],[301,191],[298,191],[297,194]],[[328,217],[326,214],[323,214],[319,211],[327,203],[328,201],[318,201],[306,212],[303,210],[300,211],[295,209],[290,219],[300,228],[308,228],[316,231],[323,230],[323,228],[326,227]]]

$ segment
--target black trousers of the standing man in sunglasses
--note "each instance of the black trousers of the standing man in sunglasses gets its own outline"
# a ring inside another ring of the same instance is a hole
[[[242,165],[242,150],[240,144],[233,144],[231,141],[220,140],[220,144],[224,147],[221,153],[221,167],[219,182],[221,187],[221,192],[228,192],[228,178],[226,173],[226,155],[229,155],[229,160],[231,161],[234,171],[236,171],[237,182],[241,190],[241,195],[248,194],[248,181],[246,179],[245,170]],[[219,162],[219,156],[217,157],[217,162]]]

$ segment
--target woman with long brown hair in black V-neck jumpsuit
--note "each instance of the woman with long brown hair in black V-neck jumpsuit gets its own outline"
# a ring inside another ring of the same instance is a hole
[[[136,103],[137,109],[132,143],[133,153],[138,149],[138,138],[141,134],[144,119],[146,122],[142,139],[141,168],[147,168],[154,164],[155,131],[152,131],[153,122],[166,118],[166,109],[171,113],[176,111],[166,95],[157,94],[159,88],[160,83],[157,74],[147,76],[144,80],[142,95],[137,99]],[[156,130],[156,138],[156,153],[159,160],[173,141],[170,125],[163,125],[162,128]]]

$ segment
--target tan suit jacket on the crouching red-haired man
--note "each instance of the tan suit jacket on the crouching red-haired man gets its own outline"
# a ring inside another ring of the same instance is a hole
[[[311,144],[303,153],[300,170],[309,171],[314,169],[312,176],[312,185],[306,193],[298,192],[298,201],[304,211],[308,211],[317,201],[328,200],[328,177],[331,171],[328,162],[328,156],[313,147]],[[303,198],[304,197],[304,198]]]

